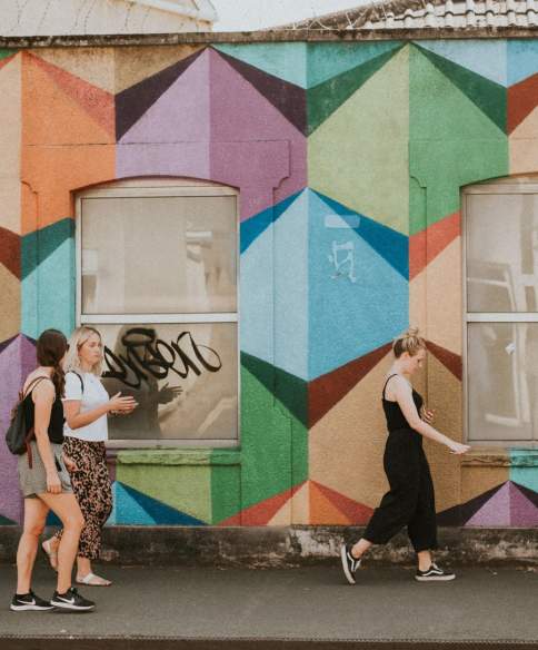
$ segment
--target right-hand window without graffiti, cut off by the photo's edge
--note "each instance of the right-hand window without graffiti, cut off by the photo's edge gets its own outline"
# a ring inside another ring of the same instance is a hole
[[[538,178],[464,198],[467,437],[538,446]]]

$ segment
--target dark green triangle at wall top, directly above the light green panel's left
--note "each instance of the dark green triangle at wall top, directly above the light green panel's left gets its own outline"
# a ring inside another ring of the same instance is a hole
[[[390,50],[366,63],[318,83],[307,91],[308,134],[312,134],[335,110],[349,99],[370,77],[381,69],[395,53],[401,49]]]

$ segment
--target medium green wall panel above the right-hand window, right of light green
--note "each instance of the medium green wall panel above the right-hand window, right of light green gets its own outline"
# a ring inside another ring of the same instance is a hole
[[[460,188],[506,176],[508,137],[416,46],[409,58],[409,234],[460,209]]]

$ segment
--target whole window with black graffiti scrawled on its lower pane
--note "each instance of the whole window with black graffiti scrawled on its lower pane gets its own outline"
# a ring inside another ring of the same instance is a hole
[[[237,214],[231,188],[177,179],[78,197],[78,319],[108,392],[139,403],[110,420],[121,446],[238,440]]]

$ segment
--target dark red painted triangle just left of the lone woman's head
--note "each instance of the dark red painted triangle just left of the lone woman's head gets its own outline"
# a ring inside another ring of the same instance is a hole
[[[387,343],[308,384],[308,422],[313,426],[390,351]]]

